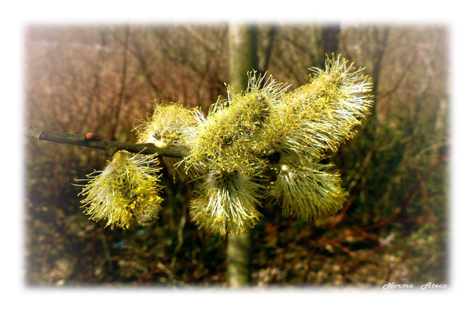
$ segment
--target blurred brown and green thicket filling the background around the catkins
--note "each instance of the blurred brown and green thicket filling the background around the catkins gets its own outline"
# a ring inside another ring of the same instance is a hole
[[[341,53],[374,83],[355,138],[328,155],[351,194],[314,222],[263,203],[252,231],[251,283],[383,285],[446,282],[447,29],[437,26],[256,25],[258,68],[291,89],[308,67]],[[135,142],[152,103],[206,113],[230,83],[229,28],[120,26],[27,29],[25,123]],[[138,119],[138,120],[137,120]],[[110,157],[25,138],[30,285],[228,285],[227,239],[191,222],[191,184],[162,178],[164,210],[150,228],[105,228],[79,209],[81,179]]]

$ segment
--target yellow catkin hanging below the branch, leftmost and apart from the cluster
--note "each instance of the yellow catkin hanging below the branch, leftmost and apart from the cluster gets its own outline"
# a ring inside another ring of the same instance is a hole
[[[113,229],[115,225],[128,229],[137,224],[147,227],[155,223],[158,212],[162,209],[163,199],[158,195],[163,186],[157,184],[155,175],[160,168],[150,163],[154,155],[144,156],[119,151],[103,171],[96,171],[88,176],[88,181],[80,194],[87,195],[81,202],[86,207],[86,214],[92,220],[107,220]]]

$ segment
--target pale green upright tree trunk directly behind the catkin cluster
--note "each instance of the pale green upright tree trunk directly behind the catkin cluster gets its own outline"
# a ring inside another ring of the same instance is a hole
[[[255,26],[229,25],[229,78],[234,93],[247,88],[247,72],[257,70],[257,36]],[[227,239],[227,280],[230,287],[246,286],[251,281],[252,231]]]

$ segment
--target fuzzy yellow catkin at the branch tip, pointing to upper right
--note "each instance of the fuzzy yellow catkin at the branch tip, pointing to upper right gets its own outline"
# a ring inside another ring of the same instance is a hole
[[[371,106],[367,92],[372,83],[360,72],[334,54],[326,60],[326,69],[312,68],[310,83],[286,94],[283,101],[292,105],[292,118],[298,122],[288,130],[279,147],[290,148],[312,159],[336,151],[345,139],[352,138],[352,129],[360,124],[359,117]]]

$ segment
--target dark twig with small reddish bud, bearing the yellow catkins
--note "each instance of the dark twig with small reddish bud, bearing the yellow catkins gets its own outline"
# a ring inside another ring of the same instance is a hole
[[[173,158],[185,158],[189,155],[189,153],[186,151],[176,150],[172,148],[160,148],[156,147],[153,143],[133,144],[106,141],[97,138],[89,139],[88,137],[95,136],[93,133],[69,134],[64,132],[47,131],[36,129],[30,126],[25,126],[25,128],[23,128],[22,135],[28,138],[36,138],[37,140],[97,148],[107,152],[107,154],[109,155],[112,155],[118,150],[126,150],[130,153],[137,154],[158,154],[158,156],[166,156]]]

